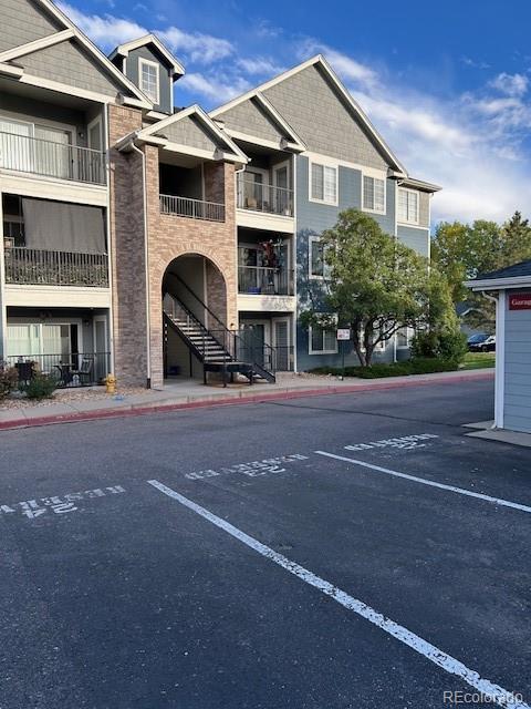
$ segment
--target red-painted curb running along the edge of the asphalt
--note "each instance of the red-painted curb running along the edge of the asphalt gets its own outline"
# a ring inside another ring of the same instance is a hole
[[[382,383],[353,384],[353,386],[330,386],[314,389],[300,389],[291,391],[279,391],[260,394],[240,393],[239,397],[225,397],[219,399],[205,399],[199,401],[187,401],[183,403],[167,404],[133,404],[123,409],[95,409],[94,411],[79,411],[76,413],[65,413],[55,415],[35,417],[31,420],[15,419],[13,421],[0,421],[0,431],[12,429],[31,429],[33,427],[53,425],[56,423],[76,423],[81,421],[96,421],[100,419],[122,419],[128,417],[146,415],[148,413],[167,413],[184,409],[206,409],[214,407],[238,405],[247,403],[267,403],[268,401],[285,401],[288,399],[304,399],[309,397],[325,397],[327,394],[348,394],[355,392],[367,392],[389,389],[409,389],[412,387],[426,387],[430,384],[454,384],[464,381],[487,381],[493,379],[493,372],[481,372],[478,374],[461,374],[447,379],[413,379],[412,381],[385,381]]]

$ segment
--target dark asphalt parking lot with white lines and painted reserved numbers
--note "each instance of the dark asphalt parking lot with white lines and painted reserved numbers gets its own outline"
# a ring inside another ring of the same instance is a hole
[[[0,709],[527,707],[531,455],[465,435],[491,410],[460,382],[0,432]]]

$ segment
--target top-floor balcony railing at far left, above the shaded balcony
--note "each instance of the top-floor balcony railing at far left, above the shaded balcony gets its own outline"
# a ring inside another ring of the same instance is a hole
[[[0,167],[46,177],[104,185],[105,154],[0,131]]]

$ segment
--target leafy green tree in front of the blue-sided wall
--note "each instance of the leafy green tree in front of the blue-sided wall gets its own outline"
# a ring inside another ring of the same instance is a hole
[[[444,277],[363,212],[342,212],[335,226],[323,232],[321,243],[327,265],[324,305],[329,315],[322,315],[320,302],[310,302],[301,319],[306,325],[351,328],[364,367],[371,364],[379,342],[404,327],[428,327],[430,307],[435,307],[433,317],[436,311],[442,317],[451,301],[448,295],[446,304],[440,298],[435,302],[436,279],[440,287]]]

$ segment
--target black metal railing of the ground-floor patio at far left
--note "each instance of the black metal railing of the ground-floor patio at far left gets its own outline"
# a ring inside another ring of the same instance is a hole
[[[102,384],[111,371],[110,352],[75,352],[63,354],[11,354],[8,366],[19,372],[19,384],[28,383],[42,372],[56,380],[58,389]]]

